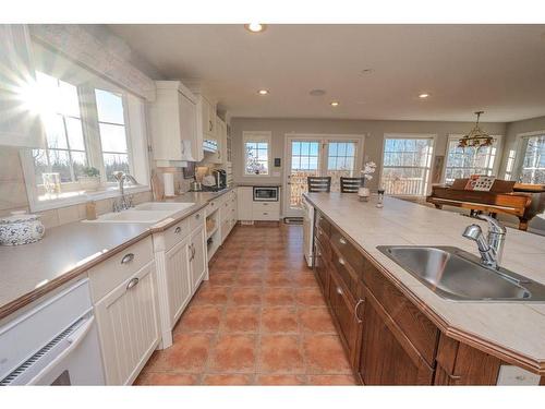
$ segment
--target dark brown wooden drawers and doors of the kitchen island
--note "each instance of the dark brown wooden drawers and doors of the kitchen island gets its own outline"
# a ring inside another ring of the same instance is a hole
[[[349,237],[315,215],[315,277],[361,384],[497,384],[500,359],[443,334]]]

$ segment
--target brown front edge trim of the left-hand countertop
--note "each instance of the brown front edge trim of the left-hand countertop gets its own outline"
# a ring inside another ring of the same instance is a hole
[[[175,225],[175,224],[180,222],[181,220],[195,214],[196,212],[202,210],[203,208],[205,208],[208,205],[209,202],[222,196],[223,194],[230,192],[232,189],[233,189],[233,187],[227,188],[226,190],[220,191],[220,192],[198,192],[198,193],[208,193],[211,195],[211,197],[203,200],[202,203],[195,204],[194,206],[191,206],[190,208],[180,212],[178,215],[174,216],[175,218],[173,218],[172,221],[170,221],[168,224],[161,224],[160,226],[150,225],[143,232],[130,238],[129,240],[123,241],[122,243],[120,243],[111,249],[108,249],[108,252],[104,253],[102,255],[97,256],[93,260],[89,260],[86,263],[77,264],[74,268],[71,268],[64,273],[60,273],[60,275],[58,277],[49,280],[47,284],[45,284],[40,287],[37,287],[34,290],[0,305],[0,321],[4,320],[9,315],[15,313],[16,311],[19,311],[23,306],[25,306],[25,305],[36,301],[37,299],[46,296],[48,292],[59,288],[60,286],[64,285],[65,282],[68,282],[70,280],[76,278],[77,276],[86,273],[93,266],[108,260],[109,257],[123,251],[128,246],[145,239],[146,237],[148,237],[153,233],[165,231],[165,230],[169,229],[170,227],[172,227],[173,225]],[[189,193],[191,194],[191,192],[189,192]],[[183,201],[182,201],[184,199],[183,196],[184,196],[184,194],[177,196],[177,197],[165,200],[162,202],[181,202],[181,203],[183,203]],[[73,224],[75,225],[78,222],[81,222],[81,220],[74,221]],[[39,244],[39,242],[37,244]]]

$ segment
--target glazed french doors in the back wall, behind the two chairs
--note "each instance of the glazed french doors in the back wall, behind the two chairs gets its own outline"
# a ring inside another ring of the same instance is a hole
[[[330,176],[331,192],[340,190],[340,177],[359,176],[363,137],[354,135],[286,136],[283,215],[301,217],[301,200],[310,176]]]

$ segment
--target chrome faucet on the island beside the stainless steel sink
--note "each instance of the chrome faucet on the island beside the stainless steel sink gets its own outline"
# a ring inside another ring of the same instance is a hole
[[[504,253],[507,229],[494,217],[480,215],[479,218],[488,221],[487,238],[484,238],[481,226],[474,224],[468,226],[462,236],[476,242],[483,265],[497,269]]]

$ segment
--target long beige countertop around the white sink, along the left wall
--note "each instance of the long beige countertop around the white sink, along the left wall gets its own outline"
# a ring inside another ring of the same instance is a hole
[[[0,246],[0,318],[56,289],[154,231],[169,228],[229,192],[184,193],[165,202],[195,203],[154,227],[146,222],[74,221],[47,229],[36,243]]]

